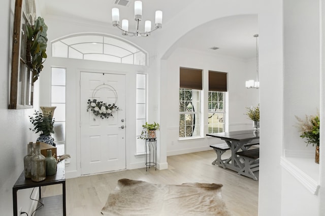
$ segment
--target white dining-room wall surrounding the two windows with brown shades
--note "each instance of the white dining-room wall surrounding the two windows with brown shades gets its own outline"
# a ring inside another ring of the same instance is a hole
[[[255,63],[255,64],[252,64]],[[179,139],[179,68],[196,68],[203,70],[203,97],[201,102],[201,122],[204,130],[201,130],[201,138]],[[245,80],[253,71],[255,79],[256,60],[246,61],[232,57],[213,55],[188,49],[176,49],[166,60],[166,70],[161,73],[160,91],[164,95],[161,98],[160,118],[166,120],[166,131],[161,132],[161,142],[167,144],[167,155],[184,154],[210,149],[210,144],[223,141],[213,138],[205,138],[208,133],[207,93],[209,70],[228,73],[228,97],[227,112],[229,118],[229,131],[251,129],[252,122],[247,119],[246,107],[257,105],[258,92],[256,89],[246,89]],[[249,75],[247,75],[247,73]],[[253,93],[253,94],[252,94]],[[257,97],[256,97],[257,96]],[[249,103],[249,104],[248,104]]]

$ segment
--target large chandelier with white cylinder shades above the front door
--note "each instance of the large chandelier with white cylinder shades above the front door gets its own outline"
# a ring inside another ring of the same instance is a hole
[[[135,1],[134,2],[134,19],[136,21],[136,31],[135,32],[129,32],[128,31],[128,20],[122,20],[122,26],[120,26],[120,18],[119,18],[119,11],[118,8],[112,8],[112,21],[113,26],[119,28],[122,30],[122,35],[125,36],[150,36],[150,33],[154,30],[157,30],[158,28],[163,27],[163,12],[162,11],[156,11],[156,17],[155,17],[155,28],[151,30],[151,21],[146,20],[145,21],[145,27],[144,32],[140,32],[139,30],[139,22],[142,20],[142,2],[141,1]]]

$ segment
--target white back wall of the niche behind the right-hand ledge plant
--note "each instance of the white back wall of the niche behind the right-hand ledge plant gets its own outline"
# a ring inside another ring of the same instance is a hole
[[[306,150],[294,127],[295,115],[319,110],[319,1],[283,2],[284,19],[284,148]],[[312,145],[307,149],[314,149]]]

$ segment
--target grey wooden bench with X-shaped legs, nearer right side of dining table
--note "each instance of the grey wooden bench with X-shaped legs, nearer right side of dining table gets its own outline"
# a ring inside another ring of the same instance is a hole
[[[244,167],[238,171],[238,175],[247,176],[257,181],[254,171],[259,170],[259,148],[236,153],[244,161]]]

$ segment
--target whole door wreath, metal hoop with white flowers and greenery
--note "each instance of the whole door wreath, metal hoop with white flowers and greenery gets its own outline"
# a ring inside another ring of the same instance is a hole
[[[104,103],[103,101],[99,101],[95,98],[96,93],[101,90],[101,89],[109,89],[111,90],[114,95],[115,95],[115,102],[112,104],[109,103]],[[98,87],[96,87],[93,92],[92,92],[92,96],[91,99],[88,99],[87,101],[87,112],[92,112],[95,116],[100,116],[102,119],[104,118],[109,118],[114,117],[113,113],[120,110],[120,108],[118,106],[116,106],[117,102],[117,93],[116,90],[108,84],[102,84],[102,85],[98,85]]]

